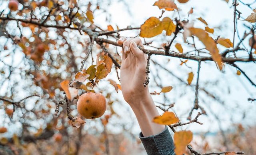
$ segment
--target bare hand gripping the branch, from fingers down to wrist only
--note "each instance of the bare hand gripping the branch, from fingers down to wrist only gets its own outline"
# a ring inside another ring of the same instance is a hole
[[[123,45],[120,80],[124,100],[130,105],[136,104],[150,95],[148,86],[143,85],[147,55],[137,47],[139,45],[144,48],[140,38],[121,37],[117,43]]]

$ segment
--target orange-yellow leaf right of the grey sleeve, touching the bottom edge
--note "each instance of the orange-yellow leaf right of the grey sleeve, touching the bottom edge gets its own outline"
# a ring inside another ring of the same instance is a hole
[[[175,154],[186,154],[186,146],[192,141],[193,133],[191,131],[177,131],[174,133]]]

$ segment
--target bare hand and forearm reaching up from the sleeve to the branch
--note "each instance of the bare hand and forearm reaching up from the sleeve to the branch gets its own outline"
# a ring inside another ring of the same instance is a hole
[[[144,137],[162,132],[164,125],[152,122],[159,115],[146,79],[147,55],[137,45],[144,47],[140,38],[121,37],[117,43],[122,45],[121,85],[124,100],[132,107]]]

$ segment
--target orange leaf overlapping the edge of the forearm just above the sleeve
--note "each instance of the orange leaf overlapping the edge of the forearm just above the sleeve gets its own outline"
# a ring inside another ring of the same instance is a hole
[[[162,124],[162,125],[171,125],[173,123],[177,123],[179,121],[178,117],[175,116],[173,112],[164,112],[162,116],[156,116],[153,119],[154,123]]]

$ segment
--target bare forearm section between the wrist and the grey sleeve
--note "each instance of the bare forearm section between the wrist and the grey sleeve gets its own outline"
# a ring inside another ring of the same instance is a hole
[[[152,121],[154,117],[159,115],[159,113],[150,93],[132,102],[133,103],[129,104],[137,117],[144,137],[156,135],[165,129],[164,125],[160,125]]]

